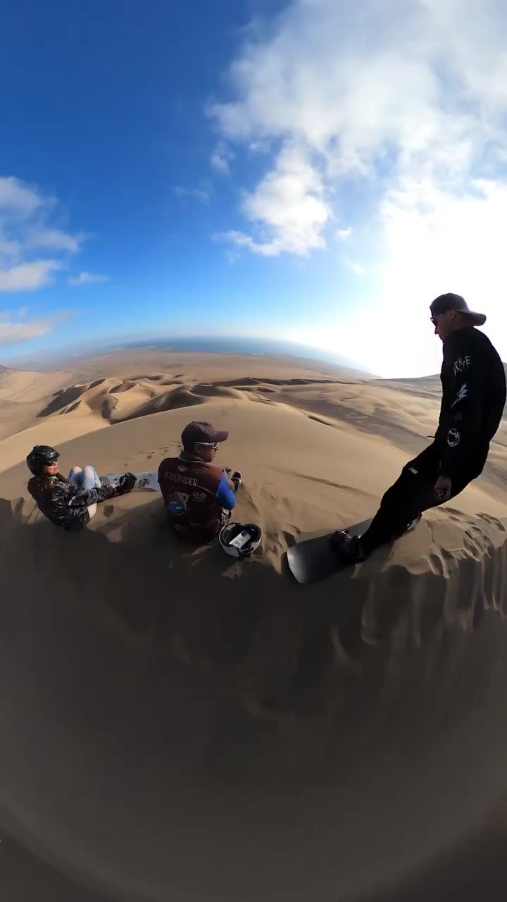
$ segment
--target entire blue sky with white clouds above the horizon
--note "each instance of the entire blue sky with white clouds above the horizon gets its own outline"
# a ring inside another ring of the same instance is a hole
[[[507,359],[500,0],[5,0],[0,360],[167,336]]]

